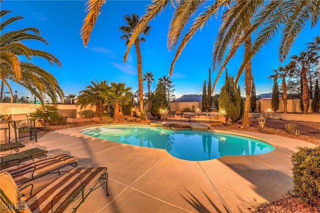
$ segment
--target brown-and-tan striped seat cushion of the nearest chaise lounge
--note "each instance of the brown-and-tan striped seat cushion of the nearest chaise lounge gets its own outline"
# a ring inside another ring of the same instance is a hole
[[[103,169],[102,169],[103,170]],[[80,199],[69,206],[62,206],[81,186],[85,186],[84,193],[100,178],[103,171],[67,172],[52,183],[33,194],[25,201],[32,212],[69,212],[72,211]]]

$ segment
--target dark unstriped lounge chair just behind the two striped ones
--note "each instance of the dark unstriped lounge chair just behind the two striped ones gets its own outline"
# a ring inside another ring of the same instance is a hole
[[[48,151],[39,149],[39,148],[31,148],[14,154],[1,155],[0,159],[0,168],[5,168],[13,164],[19,164],[22,161],[33,159],[35,157],[45,156]]]

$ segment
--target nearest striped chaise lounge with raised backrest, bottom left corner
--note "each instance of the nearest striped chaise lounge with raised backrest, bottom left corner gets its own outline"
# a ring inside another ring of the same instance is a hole
[[[0,201],[2,210],[16,212],[75,212],[84,199],[104,182],[107,184],[107,168],[73,168],[53,180],[50,184],[28,197],[21,198],[13,178],[8,172],[0,173]],[[108,196],[107,186],[106,195]],[[93,207],[93,206],[92,206]]]

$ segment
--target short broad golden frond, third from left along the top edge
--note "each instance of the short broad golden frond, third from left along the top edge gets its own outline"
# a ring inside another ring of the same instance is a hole
[[[205,0],[184,0],[178,4],[169,25],[167,36],[167,48],[169,50],[175,47],[185,24],[203,3],[205,3]]]

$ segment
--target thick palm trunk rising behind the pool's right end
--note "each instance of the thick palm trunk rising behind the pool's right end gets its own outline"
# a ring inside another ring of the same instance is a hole
[[[244,57],[249,53],[250,49],[251,49],[251,36],[249,36],[244,41]],[[245,76],[244,76],[245,105],[244,105],[242,125],[249,125],[250,93],[251,93],[251,86],[252,86],[251,59],[245,64],[244,71],[245,71]]]

